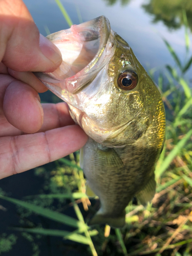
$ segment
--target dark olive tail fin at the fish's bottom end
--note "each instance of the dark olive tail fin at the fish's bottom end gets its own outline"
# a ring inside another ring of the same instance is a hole
[[[111,227],[114,228],[121,228],[125,224],[125,211],[124,215],[120,217],[106,217],[102,214],[96,214],[88,223],[90,226],[91,225],[96,225],[96,224],[108,224]]]

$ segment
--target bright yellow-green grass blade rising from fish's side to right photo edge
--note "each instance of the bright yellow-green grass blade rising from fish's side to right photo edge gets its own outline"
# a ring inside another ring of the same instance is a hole
[[[160,168],[155,170],[157,179],[165,172],[168,168],[169,164],[173,161],[173,159],[179,154],[181,148],[185,145],[187,140],[192,135],[192,129],[188,131],[188,133],[178,142],[177,145],[173,148],[173,150],[168,154],[168,156],[164,159]]]

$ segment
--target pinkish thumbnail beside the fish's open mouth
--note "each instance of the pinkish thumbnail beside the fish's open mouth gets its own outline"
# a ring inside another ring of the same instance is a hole
[[[59,49],[41,34],[39,37],[39,47],[42,54],[44,54],[49,60],[53,61],[53,63],[58,64],[61,62],[62,57]]]

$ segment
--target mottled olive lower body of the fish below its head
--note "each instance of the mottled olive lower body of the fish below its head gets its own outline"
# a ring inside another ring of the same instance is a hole
[[[150,180],[146,166],[142,170],[145,158],[145,152],[142,154],[137,144],[109,148],[89,138],[81,151],[81,166],[87,185],[100,199],[96,223],[123,226],[125,207]],[[112,219],[116,220],[115,224],[110,221]]]

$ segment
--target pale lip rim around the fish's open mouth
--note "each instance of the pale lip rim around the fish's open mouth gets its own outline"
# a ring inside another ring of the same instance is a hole
[[[86,67],[81,69],[75,75],[70,76],[66,79],[59,79],[54,75],[54,72],[35,72],[34,74],[45,84],[46,87],[49,87],[50,90],[52,87],[54,88],[54,90],[51,90],[54,91],[54,93],[55,86],[59,87],[58,91],[60,91],[61,89],[67,90],[71,94],[79,93],[82,89],[89,85],[90,81],[93,81],[98,72],[106,65],[106,60],[104,60],[104,56],[102,55],[104,55],[104,51],[106,52],[105,48],[108,44],[108,40],[111,33],[111,27],[108,18],[102,15],[95,19],[90,20],[89,22],[76,25],[74,28],[80,30],[78,33],[81,33],[82,36],[83,32],[86,32],[86,29],[87,31],[91,29],[93,35],[95,37],[98,36],[99,38],[99,48],[95,56],[92,58],[92,60],[88,63]],[[53,33],[47,36],[47,38],[50,39],[53,43],[55,43],[56,40],[62,40],[63,38],[65,38],[66,34],[73,33],[71,29]],[[62,34],[64,36],[62,36]],[[61,92],[59,92],[59,94],[61,94]]]

